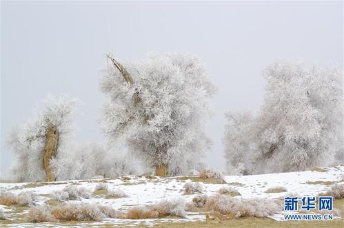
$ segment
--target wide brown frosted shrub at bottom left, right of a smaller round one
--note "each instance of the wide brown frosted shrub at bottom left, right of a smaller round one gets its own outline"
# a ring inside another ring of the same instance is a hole
[[[105,218],[96,204],[63,203],[52,207],[52,215],[63,221],[100,221]]]

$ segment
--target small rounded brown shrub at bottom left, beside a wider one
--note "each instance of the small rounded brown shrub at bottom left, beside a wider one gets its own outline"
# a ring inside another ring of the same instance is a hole
[[[54,220],[49,205],[38,205],[29,209],[28,222],[52,222]]]

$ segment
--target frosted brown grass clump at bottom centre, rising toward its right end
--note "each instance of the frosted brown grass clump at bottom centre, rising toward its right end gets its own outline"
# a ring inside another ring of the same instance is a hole
[[[185,218],[185,202],[182,199],[161,200],[157,205],[150,207],[134,207],[129,209],[126,215],[128,219],[163,218],[166,216],[178,216]]]

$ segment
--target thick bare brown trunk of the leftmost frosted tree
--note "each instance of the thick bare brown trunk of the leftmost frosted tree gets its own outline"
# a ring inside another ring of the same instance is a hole
[[[43,166],[45,169],[45,181],[55,181],[56,177],[50,167],[50,160],[57,154],[57,146],[59,144],[59,131],[51,122],[45,132],[45,145],[43,149]]]

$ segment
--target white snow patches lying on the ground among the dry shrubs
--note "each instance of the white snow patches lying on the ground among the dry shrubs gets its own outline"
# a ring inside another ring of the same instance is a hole
[[[343,183],[344,166],[323,168],[326,172],[305,171],[305,172],[289,172],[279,174],[262,174],[252,176],[225,176],[227,183],[225,184],[210,184],[203,183],[204,194],[215,194],[221,187],[230,185],[238,190],[241,196],[237,198],[283,198],[288,194],[297,194],[298,196],[317,196],[318,193],[325,191],[328,186],[323,184],[314,184],[315,181],[329,181],[332,183]],[[25,187],[30,183],[1,183],[1,189],[7,189],[14,194],[19,194],[23,191],[34,191],[39,194],[37,204],[43,204],[45,200],[49,199],[46,194],[51,194],[52,191],[61,190],[70,184],[76,184],[77,187],[85,187],[94,190],[94,187],[101,181],[108,184],[109,190],[117,188],[122,189],[127,198],[105,199],[102,196],[92,196],[90,199],[82,199],[85,203],[97,203],[101,205],[110,205],[115,209],[126,210],[137,205],[152,205],[159,203],[160,200],[166,198],[184,198],[186,202],[192,200],[194,195],[183,195],[183,185],[191,180],[179,180],[179,178],[145,178],[144,176],[128,176],[126,178],[114,178],[103,180],[70,180],[55,183],[43,183],[45,185],[39,187]],[[331,184],[331,183],[330,183]],[[282,193],[265,193],[271,187],[285,187],[287,192]],[[43,195],[43,196],[42,196]],[[9,207],[0,205],[0,208],[6,213]],[[270,216],[275,220],[283,220],[282,214],[283,206],[281,206],[281,213]],[[204,214],[188,213],[186,218],[164,218],[159,219],[159,222],[180,222],[180,221],[195,221],[205,220]],[[105,219],[102,222],[112,223],[115,225],[153,225],[155,219],[145,220],[127,220],[127,219]],[[99,222],[94,222],[94,225]],[[80,226],[83,222],[78,223]],[[20,224],[25,227],[45,227],[53,226],[52,223],[37,223],[37,224]],[[19,224],[11,224],[8,227],[18,227]]]

